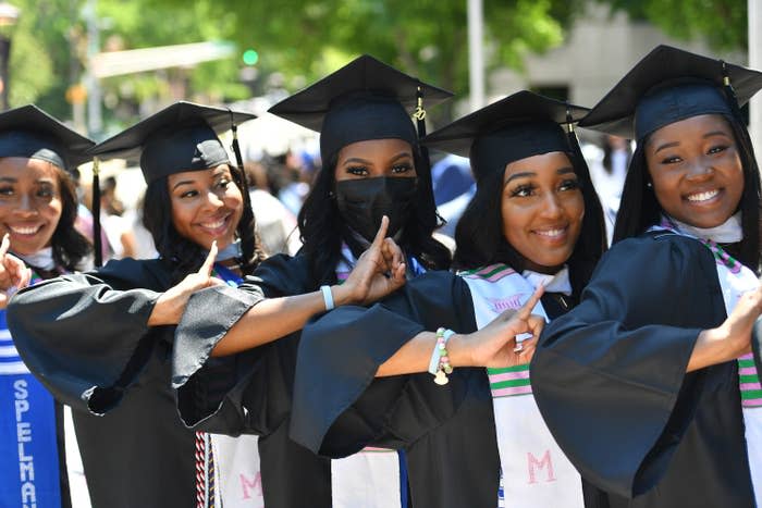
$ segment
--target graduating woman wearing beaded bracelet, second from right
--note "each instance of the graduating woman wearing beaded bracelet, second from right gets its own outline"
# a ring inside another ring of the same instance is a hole
[[[339,457],[368,444],[405,449],[414,506],[582,506],[582,481],[531,396],[534,342],[514,337],[537,333],[530,309],[553,319],[573,307],[604,250],[600,202],[561,126],[586,112],[521,91],[423,140],[470,156],[462,272],[427,273],[305,329],[294,441]],[[433,380],[396,375],[427,370]]]

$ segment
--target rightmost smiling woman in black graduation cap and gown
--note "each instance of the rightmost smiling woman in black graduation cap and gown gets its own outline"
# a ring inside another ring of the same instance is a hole
[[[583,120],[638,148],[615,244],[579,306],[546,327],[531,376],[601,506],[762,506],[748,355],[760,174],[738,112],[761,87],[762,73],[660,46]]]

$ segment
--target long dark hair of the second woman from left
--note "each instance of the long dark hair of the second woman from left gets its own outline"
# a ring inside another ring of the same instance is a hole
[[[242,272],[250,273],[265,259],[265,255],[255,233],[255,218],[243,172],[235,165],[228,165],[233,183],[244,198],[243,214],[236,227],[242,251],[242,258],[238,261]],[[143,203],[143,223],[153,237],[159,256],[173,264],[172,280],[177,283],[201,267],[207,252],[199,245],[177,233],[174,227],[167,178],[164,176],[148,184]]]

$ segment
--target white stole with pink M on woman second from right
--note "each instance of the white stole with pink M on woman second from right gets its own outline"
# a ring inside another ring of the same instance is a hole
[[[460,273],[482,329],[520,308],[534,287],[504,264]],[[548,320],[540,302],[532,310]],[[520,337],[517,337],[520,338]],[[501,462],[499,507],[583,508],[582,480],[553,439],[531,395],[529,364],[488,369]]]

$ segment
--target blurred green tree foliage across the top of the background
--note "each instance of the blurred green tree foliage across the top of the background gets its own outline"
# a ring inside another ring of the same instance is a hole
[[[743,48],[743,0],[595,0],[648,20],[676,37],[706,37]],[[88,0],[11,0],[22,14],[12,37],[10,102],[36,102],[71,116],[66,89],[87,66]],[[563,41],[586,0],[483,0],[490,69],[520,69],[523,57]],[[134,121],[181,96],[217,102],[293,91],[368,52],[443,88],[468,89],[466,0],[97,0],[100,47],[108,50],[230,40],[234,58],[105,79],[105,111]],[[257,79],[242,83],[247,48],[259,53]],[[148,104],[148,106],[146,106]],[[144,111],[145,112],[145,111]],[[115,125],[114,125],[115,127]]]

